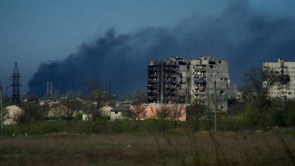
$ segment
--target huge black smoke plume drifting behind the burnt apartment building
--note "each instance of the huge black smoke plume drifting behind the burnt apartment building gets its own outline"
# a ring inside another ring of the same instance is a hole
[[[28,93],[44,96],[48,81],[65,92],[83,89],[85,81],[97,79],[106,85],[111,82],[112,93],[124,97],[136,87],[146,90],[148,60],[199,58],[201,51],[228,59],[231,82],[239,85],[242,71],[252,65],[294,59],[294,23],[291,16],[273,18],[239,1],[218,17],[192,15],[174,27],[146,27],[127,34],[111,28],[93,43],[82,43],[66,59],[40,64]]]

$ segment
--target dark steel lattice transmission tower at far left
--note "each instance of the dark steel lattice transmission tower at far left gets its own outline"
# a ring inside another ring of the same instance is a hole
[[[19,106],[19,97],[20,92],[19,92],[19,87],[21,87],[22,85],[19,83],[19,69],[17,67],[17,62],[15,62],[14,64],[14,69],[13,69],[13,73],[10,77],[10,79],[12,78],[12,84],[10,85],[10,87],[12,87],[12,104],[15,104],[17,106]]]

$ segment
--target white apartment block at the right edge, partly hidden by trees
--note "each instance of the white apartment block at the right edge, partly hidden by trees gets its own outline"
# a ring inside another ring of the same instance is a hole
[[[278,62],[263,62],[263,70],[273,70],[278,74],[290,78],[290,82],[285,85],[275,85],[271,87],[269,95],[285,99],[295,99],[295,62],[278,59]]]

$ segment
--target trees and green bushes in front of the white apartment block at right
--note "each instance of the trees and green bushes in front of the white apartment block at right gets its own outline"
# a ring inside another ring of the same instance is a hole
[[[295,101],[285,102],[280,96],[271,97],[273,87],[281,87],[290,82],[290,78],[273,70],[251,67],[244,72],[243,101],[232,105],[230,113],[242,116],[246,128],[266,128],[270,126],[294,126]]]

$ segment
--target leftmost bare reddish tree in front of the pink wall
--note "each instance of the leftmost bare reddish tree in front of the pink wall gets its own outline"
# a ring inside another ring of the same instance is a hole
[[[136,101],[130,106],[130,118],[134,121],[140,121],[148,116],[147,106],[142,105],[140,101]]]

